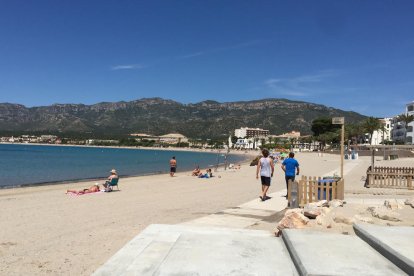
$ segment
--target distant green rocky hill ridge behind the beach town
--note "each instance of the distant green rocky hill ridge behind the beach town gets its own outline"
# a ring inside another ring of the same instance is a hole
[[[228,136],[244,126],[270,130],[271,134],[297,130],[311,133],[318,117],[344,116],[347,122],[366,117],[320,104],[287,99],[182,104],[162,98],[93,105],[54,104],[25,107],[0,103],[0,132],[89,133],[92,136],[148,133],[182,133],[191,138]]]

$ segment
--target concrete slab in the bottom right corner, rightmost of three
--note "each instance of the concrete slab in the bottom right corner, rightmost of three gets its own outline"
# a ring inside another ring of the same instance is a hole
[[[354,224],[355,233],[392,263],[414,275],[414,227]]]

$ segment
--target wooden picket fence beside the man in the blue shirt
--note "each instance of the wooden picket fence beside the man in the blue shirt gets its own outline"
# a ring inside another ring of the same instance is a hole
[[[297,189],[297,191],[295,191]],[[328,180],[322,177],[306,177],[295,183],[289,181],[288,202],[292,202],[292,196],[296,192],[299,207],[307,203],[319,200],[344,199],[344,180]]]

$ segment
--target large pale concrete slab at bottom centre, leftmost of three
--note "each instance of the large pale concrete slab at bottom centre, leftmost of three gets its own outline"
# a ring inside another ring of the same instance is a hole
[[[267,231],[150,225],[93,275],[297,275]]]

